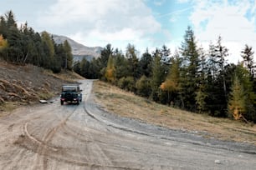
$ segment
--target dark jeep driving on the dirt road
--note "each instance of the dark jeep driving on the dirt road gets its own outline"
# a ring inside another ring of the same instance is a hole
[[[78,84],[63,85],[60,95],[60,104],[63,105],[64,102],[75,102],[79,104],[79,102],[82,102],[81,91]]]

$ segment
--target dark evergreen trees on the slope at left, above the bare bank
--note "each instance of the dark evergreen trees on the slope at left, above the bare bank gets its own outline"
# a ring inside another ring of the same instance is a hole
[[[0,57],[8,62],[31,63],[60,72],[72,70],[69,42],[57,44],[48,32],[35,32],[25,23],[20,28],[12,11],[0,17]]]

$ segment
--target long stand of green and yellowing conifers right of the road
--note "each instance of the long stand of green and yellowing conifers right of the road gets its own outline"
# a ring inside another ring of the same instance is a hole
[[[206,50],[188,27],[175,52],[163,45],[139,56],[134,45],[123,53],[108,44],[98,59],[75,62],[74,71],[172,107],[256,122],[254,52],[248,45],[241,51],[242,62],[228,63],[222,37]]]

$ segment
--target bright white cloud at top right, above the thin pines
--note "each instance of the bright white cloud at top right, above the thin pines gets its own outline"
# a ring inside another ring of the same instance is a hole
[[[255,8],[248,1],[241,2],[207,2],[194,1],[194,11],[190,20],[195,28],[195,33],[199,42],[210,42],[216,40],[218,36],[223,37],[223,44],[228,47],[230,57],[229,62],[241,61],[240,52],[245,44],[253,46],[256,50],[256,28],[255,28]],[[251,18],[247,18],[248,13]]]

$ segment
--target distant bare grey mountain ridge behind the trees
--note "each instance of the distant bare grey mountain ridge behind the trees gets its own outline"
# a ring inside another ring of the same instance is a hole
[[[72,54],[74,56],[74,61],[80,61],[83,58],[87,60],[91,60],[93,57],[100,57],[100,52],[103,47],[86,47],[79,42],[75,42],[73,39],[65,36],[52,35],[54,38],[54,42],[63,43],[65,40],[69,42],[69,45],[72,47]]]

